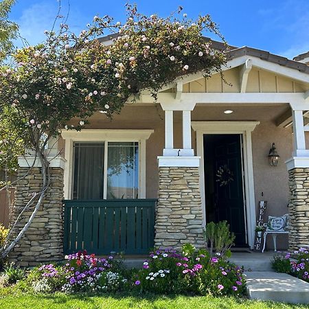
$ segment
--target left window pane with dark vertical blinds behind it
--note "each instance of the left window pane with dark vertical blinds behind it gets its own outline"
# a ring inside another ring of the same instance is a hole
[[[74,143],[73,199],[102,199],[104,143]]]

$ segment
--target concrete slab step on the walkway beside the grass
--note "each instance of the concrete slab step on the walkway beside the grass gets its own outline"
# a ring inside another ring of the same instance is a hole
[[[251,299],[309,304],[309,284],[301,279],[271,271],[249,271],[245,274]]]

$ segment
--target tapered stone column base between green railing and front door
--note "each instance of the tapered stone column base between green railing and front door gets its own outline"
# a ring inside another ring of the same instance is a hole
[[[205,246],[198,168],[159,167],[155,247]]]

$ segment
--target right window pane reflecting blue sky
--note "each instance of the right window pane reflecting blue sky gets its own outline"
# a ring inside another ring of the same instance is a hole
[[[108,142],[106,198],[138,198],[137,142]]]

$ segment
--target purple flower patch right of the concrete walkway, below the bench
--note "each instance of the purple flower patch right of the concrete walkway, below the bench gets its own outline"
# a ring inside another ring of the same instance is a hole
[[[278,273],[288,273],[309,282],[309,248],[300,248],[293,253],[276,255],[272,265]]]

